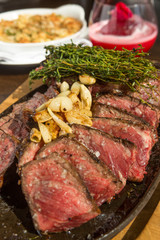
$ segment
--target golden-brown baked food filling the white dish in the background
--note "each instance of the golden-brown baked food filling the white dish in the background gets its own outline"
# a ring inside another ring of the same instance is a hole
[[[78,32],[82,22],[74,17],[51,13],[19,15],[0,21],[0,40],[11,43],[37,43],[61,39]]]

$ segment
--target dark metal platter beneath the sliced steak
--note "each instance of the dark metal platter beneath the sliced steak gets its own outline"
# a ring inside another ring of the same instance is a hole
[[[46,86],[35,91],[44,92]],[[18,102],[29,99],[35,91],[29,93]],[[12,111],[12,106],[0,117]],[[160,128],[158,129],[160,136]],[[111,239],[120,232],[142,208],[147,204],[158,183],[160,182],[160,140],[153,147],[147,175],[142,183],[127,182],[122,192],[100,208],[102,214],[73,230],[40,236],[34,230],[30,212],[21,187],[17,184],[16,164],[14,163],[5,174],[5,184],[0,195],[0,237],[1,240],[94,240]],[[15,160],[16,162],[16,160]]]

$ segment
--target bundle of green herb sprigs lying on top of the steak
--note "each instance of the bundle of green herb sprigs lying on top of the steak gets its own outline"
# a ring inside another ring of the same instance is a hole
[[[66,44],[47,46],[46,53],[42,66],[30,72],[31,81],[42,78],[45,83],[52,78],[61,81],[63,77],[88,74],[103,82],[125,84],[135,91],[148,79],[156,78],[156,68],[141,46],[132,51],[118,51]]]

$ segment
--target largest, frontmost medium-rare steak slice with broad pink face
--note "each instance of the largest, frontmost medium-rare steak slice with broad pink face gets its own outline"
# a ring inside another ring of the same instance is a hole
[[[22,190],[34,226],[43,232],[66,231],[100,213],[79,175],[56,153],[23,167]]]

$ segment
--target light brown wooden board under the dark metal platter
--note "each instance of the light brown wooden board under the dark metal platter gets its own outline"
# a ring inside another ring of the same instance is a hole
[[[17,100],[19,100],[21,97],[25,96],[27,93],[29,93],[31,90],[34,90],[35,88],[42,85],[41,80],[37,80],[32,85],[32,89],[29,88],[29,79],[24,81],[23,84],[21,84],[7,99],[5,99],[1,105],[0,105],[0,113],[3,112],[6,108],[8,108],[10,105],[15,103]],[[160,191],[160,184],[157,190]],[[158,191],[157,195],[160,197],[160,192]],[[158,197],[158,199],[159,199]],[[153,199],[154,201],[154,199]],[[143,215],[143,210],[142,213]],[[144,215],[145,217],[145,215]],[[126,226],[119,234],[117,234],[113,240],[158,240],[160,239],[160,201],[155,208],[152,216],[150,217],[148,223],[144,226],[143,230],[140,232],[140,234],[134,238],[134,231],[135,228],[138,228],[138,225],[136,224],[142,224],[142,220],[138,223],[136,223],[136,219],[134,219],[128,226]],[[132,237],[131,237],[132,236]]]

